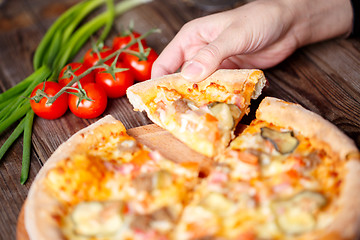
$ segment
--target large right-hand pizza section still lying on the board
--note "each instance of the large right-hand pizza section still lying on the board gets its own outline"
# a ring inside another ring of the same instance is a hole
[[[216,157],[176,236],[357,239],[359,160],[353,141],[334,125],[267,97],[256,119]]]

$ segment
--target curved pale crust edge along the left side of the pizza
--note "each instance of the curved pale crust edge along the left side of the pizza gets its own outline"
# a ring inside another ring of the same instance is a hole
[[[55,218],[55,214],[61,211],[60,202],[46,191],[43,183],[47,173],[56,167],[59,161],[76,152],[85,151],[99,139],[109,136],[110,132],[125,131],[120,121],[108,115],[78,131],[57,148],[36,176],[25,203],[25,229],[30,239],[64,239]]]

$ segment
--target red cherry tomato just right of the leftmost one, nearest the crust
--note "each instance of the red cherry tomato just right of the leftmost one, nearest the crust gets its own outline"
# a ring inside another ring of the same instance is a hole
[[[97,83],[87,83],[82,86],[87,96],[93,101],[82,100],[77,106],[79,97],[69,94],[69,108],[72,113],[81,118],[95,118],[100,116],[107,105],[105,90]]]

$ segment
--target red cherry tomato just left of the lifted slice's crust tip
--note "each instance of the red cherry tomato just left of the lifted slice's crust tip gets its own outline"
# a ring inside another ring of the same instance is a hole
[[[116,63],[117,68],[125,68],[123,63]],[[130,70],[115,73],[115,80],[110,73],[101,72],[105,69],[99,69],[95,75],[95,81],[101,85],[106,95],[110,98],[119,98],[126,94],[126,89],[134,84],[134,76]]]

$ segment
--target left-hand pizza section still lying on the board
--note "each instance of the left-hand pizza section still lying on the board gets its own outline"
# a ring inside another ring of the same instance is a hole
[[[198,169],[163,158],[107,116],[47,160],[25,203],[26,230],[37,240],[168,238]]]

